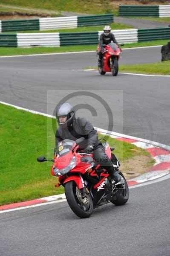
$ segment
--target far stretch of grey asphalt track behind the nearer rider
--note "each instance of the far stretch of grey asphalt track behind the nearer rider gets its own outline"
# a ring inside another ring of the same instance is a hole
[[[120,63],[150,63],[160,59],[160,47],[127,49]],[[71,91],[94,90],[101,92],[111,105],[114,131],[169,145],[170,77],[126,74],[112,77],[109,73],[101,76],[81,70],[95,65],[95,52],[0,58],[0,100],[52,114],[56,104]],[[99,105],[96,111],[102,113],[102,109]],[[95,122],[90,112],[86,116],[95,126],[107,129],[107,116],[95,118]]]

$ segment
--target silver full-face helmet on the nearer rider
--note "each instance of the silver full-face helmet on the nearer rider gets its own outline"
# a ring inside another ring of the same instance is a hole
[[[66,122],[60,122],[59,117],[66,116]],[[56,119],[58,125],[62,128],[66,128],[72,124],[73,120],[75,119],[75,109],[69,103],[64,103],[58,107],[56,110]]]

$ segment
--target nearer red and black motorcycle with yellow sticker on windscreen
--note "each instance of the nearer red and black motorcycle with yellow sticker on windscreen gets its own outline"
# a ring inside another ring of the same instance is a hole
[[[52,161],[53,176],[57,176],[59,183],[55,186],[64,186],[66,200],[72,211],[81,218],[88,218],[95,207],[111,202],[123,205],[129,198],[129,188],[124,175],[118,170],[118,158],[111,154],[107,140],[102,143],[106,154],[112,159],[113,166],[123,177],[119,183],[111,180],[107,171],[95,163],[92,154],[78,151],[84,137],[73,140],[63,140],[58,143],[58,154],[54,160],[38,157],[38,162]]]

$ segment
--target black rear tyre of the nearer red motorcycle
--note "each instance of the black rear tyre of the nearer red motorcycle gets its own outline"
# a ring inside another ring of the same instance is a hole
[[[116,199],[111,201],[111,203],[115,204],[115,205],[126,204],[126,202],[129,199],[129,187],[127,185],[127,181],[126,181],[124,175],[121,172],[119,174],[124,178],[125,188],[124,189],[118,189],[118,191],[116,192],[116,194],[115,194]],[[118,185],[118,186],[122,186],[122,185]]]

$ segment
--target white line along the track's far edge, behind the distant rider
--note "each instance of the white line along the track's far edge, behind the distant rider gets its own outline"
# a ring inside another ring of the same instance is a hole
[[[133,49],[143,49],[143,48],[153,48],[153,47],[161,47],[162,45],[155,46],[144,46],[144,47],[132,47],[132,48],[124,48],[124,50],[133,50]],[[26,55],[8,55],[8,56],[0,56],[0,58],[12,58],[12,57],[32,57],[32,56],[46,56],[46,55],[60,55],[60,54],[75,54],[75,53],[88,53],[88,52],[96,52],[96,51],[81,51],[81,52],[56,52],[56,53],[40,53],[40,54],[26,54]]]

